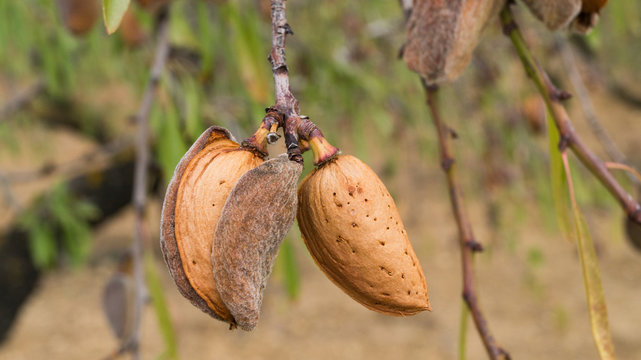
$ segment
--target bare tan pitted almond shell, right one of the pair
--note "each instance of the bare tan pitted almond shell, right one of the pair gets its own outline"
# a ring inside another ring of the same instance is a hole
[[[394,200],[372,169],[341,155],[303,180],[298,201],[305,245],[338,287],[387,315],[431,310]]]

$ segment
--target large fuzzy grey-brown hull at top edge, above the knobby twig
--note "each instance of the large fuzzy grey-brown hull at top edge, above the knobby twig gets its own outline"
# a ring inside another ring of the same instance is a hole
[[[483,28],[505,0],[417,0],[407,23],[403,59],[428,84],[456,80]]]

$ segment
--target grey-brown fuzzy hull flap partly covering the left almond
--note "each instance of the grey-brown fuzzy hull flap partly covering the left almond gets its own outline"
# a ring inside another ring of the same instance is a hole
[[[258,322],[263,289],[294,223],[303,166],[287,154],[248,171],[232,190],[216,227],[212,259],[220,296],[243,330]]]

